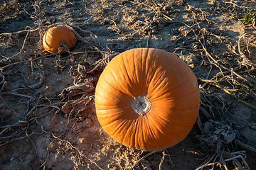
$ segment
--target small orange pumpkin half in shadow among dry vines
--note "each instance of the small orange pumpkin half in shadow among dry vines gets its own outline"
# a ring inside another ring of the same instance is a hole
[[[64,42],[64,43],[63,43]],[[43,48],[50,53],[63,54],[74,47],[76,42],[75,34],[66,26],[55,26],[49,28],[43,35]],[[61,44],[64,44],[63,50]],[[68,49],[67,49],[68,48]]]

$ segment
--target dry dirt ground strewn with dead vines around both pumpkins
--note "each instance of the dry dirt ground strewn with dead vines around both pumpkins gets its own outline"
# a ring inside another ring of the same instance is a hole
[[[256,169],[256,31],[241,20],[252,3],[1,1],[0,169]],[[43,52],[41,35],[60,23],[80,35],[75,47]],[[102,59],[135,47],[178,55],[201,89],[193,130],[161,152],[115,142],[95,116],[113,56]]]

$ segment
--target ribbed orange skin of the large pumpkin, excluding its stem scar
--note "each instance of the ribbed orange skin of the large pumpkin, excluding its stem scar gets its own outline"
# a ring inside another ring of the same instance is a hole
[[[134,97],[147,96],[150,111],[138,115]],[[153,48],[114,57],[95,90],[97,119],[117,142],[146,151],[172,147],[193,128],[200,94],[195,75],[176,55]]]

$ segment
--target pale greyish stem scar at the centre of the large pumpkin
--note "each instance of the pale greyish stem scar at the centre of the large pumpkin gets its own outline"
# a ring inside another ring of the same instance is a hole
[[[150,110],[151,104],[146,96],[137,96],[132,99],[132,108],[138,115],[145,115]]]

